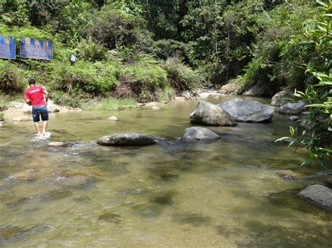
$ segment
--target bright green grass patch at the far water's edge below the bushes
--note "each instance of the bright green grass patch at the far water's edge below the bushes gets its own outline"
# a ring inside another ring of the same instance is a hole
[[[91,103],[88,105],[88,110],[121,110],[124,108],[136,108],[136,101],[134,99],[115,99],[115,98],[107,98],[102,99],[101,101],[97,101],[95,103]]]

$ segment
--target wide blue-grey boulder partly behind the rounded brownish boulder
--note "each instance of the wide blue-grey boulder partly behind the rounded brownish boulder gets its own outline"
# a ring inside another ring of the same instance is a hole
[[[235,99],[219,103],[237,122],[271,122],[275,109],[258,101]]]

